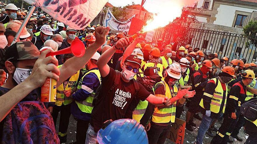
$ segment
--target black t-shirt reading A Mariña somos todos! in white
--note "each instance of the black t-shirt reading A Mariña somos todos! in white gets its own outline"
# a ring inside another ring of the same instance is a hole
[[[109,74],[102,78],[102,92],[107,93],[114,85],[116,74],[118,73],[110,68]],[[105,98],[94,106],[91,113],[92,118],[90,124],[94,127],[95,131],[100,130],[103,122],[106,120],[112,119],[114,121],[122,118],[132,118],[132,111],[138,102],[135,99],[144,101],[150,95],[141,83],[138,83],[138,85],[140,89],[135,96],[136,90],[133,80],[125,82],[120,78],[120,83],[114,90],[106,95],[100,96]]]

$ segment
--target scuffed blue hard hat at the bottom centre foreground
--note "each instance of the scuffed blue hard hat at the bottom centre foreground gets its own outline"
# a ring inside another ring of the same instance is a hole
[[[136,120],[108,120],[104,127],[97,133],[99,144],[148,144],[145,127]]]

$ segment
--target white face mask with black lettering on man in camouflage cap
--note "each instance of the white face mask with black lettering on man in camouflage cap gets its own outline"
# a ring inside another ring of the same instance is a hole
[[[25,79],[29,77],[31,74],[32,69],[27,69],[27,68],[16,68],[14,74],[13,74],[13,79],[16,81],[16,83],[21,83]]]

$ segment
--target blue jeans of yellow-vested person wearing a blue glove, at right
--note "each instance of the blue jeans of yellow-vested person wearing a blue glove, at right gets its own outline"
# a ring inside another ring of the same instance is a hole
[[[196,137],[197,144],[202,144],[204,135],[205,135],[206,131],[209,129],[212,121],[213,121],[213,118],[210,118],[210,117],[208,118],[206,115],[203,115],[203,119],[202,119],[201,125],[199,127],[197,137]]]

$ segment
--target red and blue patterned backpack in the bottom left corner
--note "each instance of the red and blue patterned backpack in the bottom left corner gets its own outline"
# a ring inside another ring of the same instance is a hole
[[[43,102],[19,102],[6,116],[2,144],[59,144],[53,118]]]

